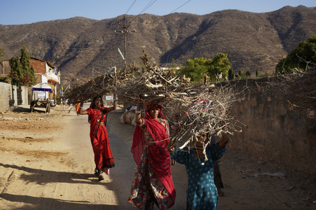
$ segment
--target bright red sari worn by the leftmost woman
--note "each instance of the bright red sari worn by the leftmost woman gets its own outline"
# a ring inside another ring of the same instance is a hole
[[[107,127],[99,125],[107,118],[108,108],[101,107],[97,111],[89,108],[88,115],[90,116],[90,139],[95,153],[95,165],[97,169],[111,168],[115,166],[114,158],[111,152],[109,137],[107,136]],[[103,113],[103,115],[102,115]]]

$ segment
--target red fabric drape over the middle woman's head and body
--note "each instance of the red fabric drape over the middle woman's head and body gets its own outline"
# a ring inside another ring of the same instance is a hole
[[[172,196],[172,200],[174,201],[176,197],[176,192],[174,189],[170,169],[170,155],[167,151],[169,135],[167,134],[165,127],[158,120],[151,118],[151,116],[149,115],[149,109],[151,109],[151,107],[153,106],[157,105],[151,104],[149,106],[146,106],[146,118],[143,118],[143,120],[145,120],[146,130],[149,132],[149,134],[151,134],[153,141],[157,142],[154,145],[149,145],[149,160],[153,167],[153,171],[156,173],[160,181],[168,190],[168,192]],[[158,106],[158,109],[158,118],[165,119],[165,116],[163,116],[163,108],[161,106]],[[142,153],[144,152],[144,141],[144,132],[137,125],[135,127],[131,149],[137,165],[139,165]]]

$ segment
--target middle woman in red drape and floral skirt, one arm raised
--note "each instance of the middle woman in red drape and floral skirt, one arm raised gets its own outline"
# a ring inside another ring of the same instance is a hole
[[[137,169],[128,202],[139,209],[152,209],[154,204],[168,209],[176,197],[167,151],[169,125],[158,104],[146,106],[146,118],[141,118],[139,103],[140,99],[131,149]]]

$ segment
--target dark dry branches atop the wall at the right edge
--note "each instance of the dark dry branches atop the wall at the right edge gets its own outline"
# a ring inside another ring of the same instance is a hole
[[[282,90],[284,99],[298,109],[316,111],[316,71],[284,74],[273,86]]]

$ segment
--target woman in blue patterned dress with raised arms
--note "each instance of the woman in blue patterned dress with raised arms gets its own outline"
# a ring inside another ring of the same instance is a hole
[[[172,141],[168,144],[170,158],[186,166],[188,174],[188,189],[186,190],[186,209],[217,209],[219,195],[214,184],[213,161],[224,155],[228,137],[223,134],[217,144],[207,146],[203,154],[203,144],[208,141],[207,134],[201,134],[195,141],[195,148],[188,151],[175,146]]]

